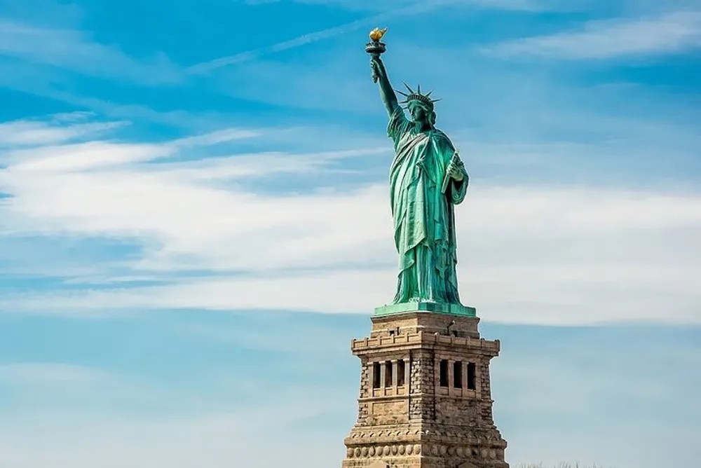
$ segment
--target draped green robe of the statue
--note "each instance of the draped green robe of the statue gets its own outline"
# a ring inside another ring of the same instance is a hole
[[[453,205],[465,198],[468,174],[447,135],[435,128],[417,132],[399,107],[390,116],[388,136],[395,148],[390,198],[399,254],[393,303],[459,304]],[[461,181],[447,176],[451,158],[463,172]]]

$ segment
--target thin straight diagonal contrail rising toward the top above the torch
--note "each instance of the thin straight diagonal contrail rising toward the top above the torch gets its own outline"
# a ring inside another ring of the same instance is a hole
[[[321,31],[311,32],[304,34],[304,36],[299,36],[289,41],[278,42],[272,46],[261,47],[253,50],[248,50],[247,52],[238,53],[235,55],[228,55],[226,57],[220,57],[215,60],[210,60],[209,62],[202,62],[186,69],[189,74],[205,74],[207,71],[212,71],[220,67],[226,67],[226,65],[231,65],[240,62],[246,62],[247,60],[254,60],[263,55],[268,55],[275,52],[280,52],[281,50],[287,50],[299,46],[304,46],[305,44],[320,41],[322,39],[327,39],[329,37],[340,36],[341,34],[346,34],[347,32],[355,31],[361,27],[366,27],[368,24],[375,24],[377,22],[384,21],[388,18],[392,18],[397,15],[414,15],[416,13],[423,13],[425,11],[433,10],[438,6],[444,4],[454,3],[456,0],[433,0],[433,1],[422,1],[418,4],[413,4],[404,8],[397,8],[393,11],[388,11],[386,13],[380,13],[379,15],[369,16],[368,18],[362,18],[360,20],[355,20],[345,25],[340,25],[336,27],[331,27],[329,29],[322,29]]]

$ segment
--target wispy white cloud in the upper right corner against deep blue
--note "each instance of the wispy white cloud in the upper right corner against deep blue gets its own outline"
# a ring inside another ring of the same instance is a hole
[[[592,60],[678,53],[699,46],[701,13],[678,11],[658,18],[592,21],[580,31],[506,41],[482,50],[501,57]]]

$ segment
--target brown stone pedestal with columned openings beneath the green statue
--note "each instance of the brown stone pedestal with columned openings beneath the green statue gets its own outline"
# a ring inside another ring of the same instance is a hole
[[[499,342],[478,323],[418,310],[372,318],[352,343],[360,398],[343,468],[508,468],[489,386]]]

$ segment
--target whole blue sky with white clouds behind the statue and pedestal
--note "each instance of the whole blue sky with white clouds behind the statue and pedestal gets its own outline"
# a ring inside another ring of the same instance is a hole
[[[697,1],[0,0],[0,464],[339,466],[395,279],[375,26],[470,172],[508,460],[697,463]]]

